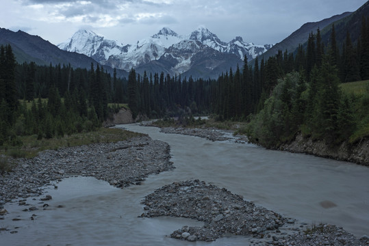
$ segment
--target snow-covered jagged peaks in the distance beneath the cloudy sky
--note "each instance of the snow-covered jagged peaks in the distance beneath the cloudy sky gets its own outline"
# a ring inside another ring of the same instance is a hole
[[[251,60],[270,49],[271,45],[246,43],[240,37],[228,43],[222,42],[218,36],[205,27],[199,27],[188,36],[178,35],[170,28],[164,27],[149,38],[138,40],[136,44],[126,45],[107,40],[93,31],[80,30],[58,47],[65,51],[88,55],[112,68],[124,70],[144,68],[147,72],[160,72],[151,71],[154,68],[160,68],[170,74],[175,74],[190,70],[194,66],[195,55],[197,61],[207,59],[207,57],[202,58],[200,54],[212,56],[212,59],[222,59],[222,61],[207,61],[205,68],[214,70],[219,64],[227,67],[228,61],[232,61],[231,64],[234,66],[237,60],[235,56],[238,57],[236,64],[242,64],[245,55]]]

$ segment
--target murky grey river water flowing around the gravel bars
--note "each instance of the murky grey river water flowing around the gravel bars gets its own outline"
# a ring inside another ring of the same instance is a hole
[[[166,141],[176,169],[149,176],[140,186],[116,189],[94,178],[73,177],[51,187],[48,210],[22,212],[7,204],[0,228],[5,245],[194,245],[168,238],[181,226],[201,225],[177,218],[140,218],[144,195],[174,181],[199,179],[243,195],[306,223],[333,223],[356,236],[369,234],[369,168],[305,154],[265,150],[233,141],[160,133],[158,128],[121,125]],[[37,202],[29,199],[29,203]],[[57,208],[63,205],[64,208]],[[29,219],[36,214],[34,220]],[[19,216],[23,220],[12,221]],[[233,236],[196,245],[246,245]],[[2,243],[0,243],[3,245]]]

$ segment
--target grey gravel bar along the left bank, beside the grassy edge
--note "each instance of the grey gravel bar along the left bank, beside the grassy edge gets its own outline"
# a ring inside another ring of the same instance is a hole
[[[169,152],[168,143],[145,136],[47,150],[33,159],[15,159],[16,167],[0,178],[0,209],[5,202],[42,195],[45,185],[72,175],[92,176],[122,188],[140,184],[150,174],[174,168]]]

